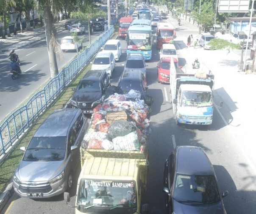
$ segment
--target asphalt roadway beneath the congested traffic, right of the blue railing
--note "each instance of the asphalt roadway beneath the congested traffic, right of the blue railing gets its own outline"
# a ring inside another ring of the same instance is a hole
[[[173,23],[177,31],[175,46],[178,49],[180,65],[184,68],[190,68],[195,57],[203,60],[213,71],[219,82],[225,82],[221,79],[222,69],[220,62],[230,57],[224,51],[208,51],[202,48],[186,48],[186,38],[188,35],[196,35],[198,30],[185,22],[178,26],[176,20],[168,19]],[[122,63],[125,62],[125,41],[122,43],[122,57],[116,62],[116,68],[113,73],[112,84],[116,85],[122,72]],[[214,59],[214,60],[212,60]],[[154,103],[150,118],[150,141],[149,141],[149,176],[147,184],[147,202],[149,203],[150,214],[165,214],[165,195],[163,188],[164,162],[175,146],[192,145],[201,146],[208,155],[214,169],[217,173],[220,188],[222,191],[228,190],[229,195],[224,198],[225,209],[228,214],[237,213],[255,213],[255,162],[250,158],[245,146],[245,142],[240,141],[237,136],[243,136],[242,128],[228,126],[224,118],[229,113],[214,108],[213,123],[209,127],[202,126],[177,126],[170,105],[170,96],[168,95],[168,84],[157,82],[156,64],[159,60],[156,45],[153,46],[153,58],[147,63],[147,92],[153,96]],[[225,65],[225,68],[232,69],[232,63]],[[224,86],[223,86],[224,87]],[[218,91],[217,91],[218,92]],[[214,92],[214,103],[220,100],[228,102],[228,94]],[[247,136],[250,138],[250,136]],[[78,177],[79,169],[76,172]],[[74,185],[71,191],[71,205],[75,205]],[[19,198],[14,194],[8,206],[8,214],[16,213],[75,213],[75,209],[67,206],[63,200],[63,195],[50,199],[28,199]]]

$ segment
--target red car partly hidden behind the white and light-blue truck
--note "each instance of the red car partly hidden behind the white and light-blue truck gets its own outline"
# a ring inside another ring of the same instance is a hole
[[[174,57],[162,57],[156,65],[158,82],[167,83],[170,82],[170,62],[173,58],[175,68],[182,68],[179,65],[178,60]]]

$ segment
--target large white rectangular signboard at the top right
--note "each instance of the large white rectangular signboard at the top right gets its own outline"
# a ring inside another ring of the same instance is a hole
[[[220,13],[246,13],[249,11],[250,0],[219,0]]]

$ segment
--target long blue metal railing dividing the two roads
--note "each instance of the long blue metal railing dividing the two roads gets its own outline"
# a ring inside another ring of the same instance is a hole
[[[113,21],[113,24],[115,20]],[[6,153],[19,136],[38,118],[38,116],[60,95],[61,91],[67,87],[72,79],[78,74],[92,56],[114,33],[114,26],[105,26],[103,33],[88,48],[79,53],[66,67],[64,67],[56,77],[50,79],[43,89],[35,92],[28,102],[13,111],[0,125],[0,155]]]

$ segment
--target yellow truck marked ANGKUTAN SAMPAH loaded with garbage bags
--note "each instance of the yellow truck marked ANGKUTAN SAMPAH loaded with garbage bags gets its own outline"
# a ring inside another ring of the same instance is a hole
[[[76,214],[148,211],[145,195],[150,107],[139,92],[130,92],[111,95],[94,109],[80,148]],[[68,192],[64,192],[64,200],[70,201]]]

